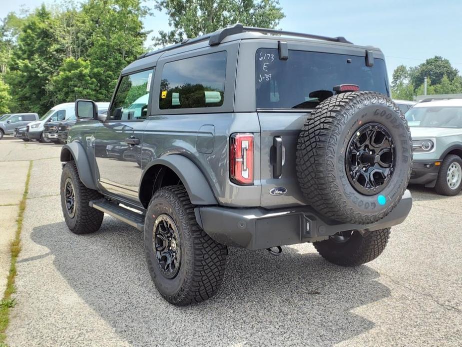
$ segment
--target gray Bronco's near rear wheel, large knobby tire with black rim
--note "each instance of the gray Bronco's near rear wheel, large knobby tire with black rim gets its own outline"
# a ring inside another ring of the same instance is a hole
[[[184,186],[161,188],[152,197],[144,223],[144,248],[151,278],[168,302],[201,302],[219,289],[228,248],[197,224]]]

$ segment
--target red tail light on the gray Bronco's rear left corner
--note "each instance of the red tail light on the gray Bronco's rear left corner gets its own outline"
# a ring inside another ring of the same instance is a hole
[[[229,142],[229,175],[237,184],[253,184],[253,147],[251,133],[232,134]]]

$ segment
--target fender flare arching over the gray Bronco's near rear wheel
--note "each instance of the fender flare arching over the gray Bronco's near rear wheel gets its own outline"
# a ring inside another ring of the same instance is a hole
[[[146,172],[154,165],[164,165],[173,170],[183,182],[191,203],[195,205],[217,205],[218,201],[202,171],[189,158],[181,154],[169,154],[153,160],[143,170],[141,181]]]

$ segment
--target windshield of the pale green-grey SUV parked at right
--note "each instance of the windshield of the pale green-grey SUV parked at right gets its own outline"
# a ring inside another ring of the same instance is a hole
[[[462,128],[462,107],[413,107],[406,119],[409,126]]]

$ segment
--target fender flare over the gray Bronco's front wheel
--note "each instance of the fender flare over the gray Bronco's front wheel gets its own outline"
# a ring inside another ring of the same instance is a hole
[[[78,176],[82,183],[88,189],[97,190],[90,163],[81,143],[74,141],[62,146],[60,160],[65,162],[72,160],[72,158],[77,165]]]

